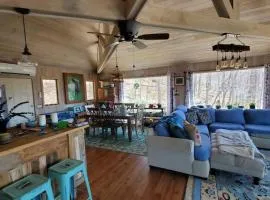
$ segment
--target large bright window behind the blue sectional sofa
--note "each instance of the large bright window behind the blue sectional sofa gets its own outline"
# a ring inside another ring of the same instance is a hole
[[[264,68],[193,74],[194,105],[263,107]]]

